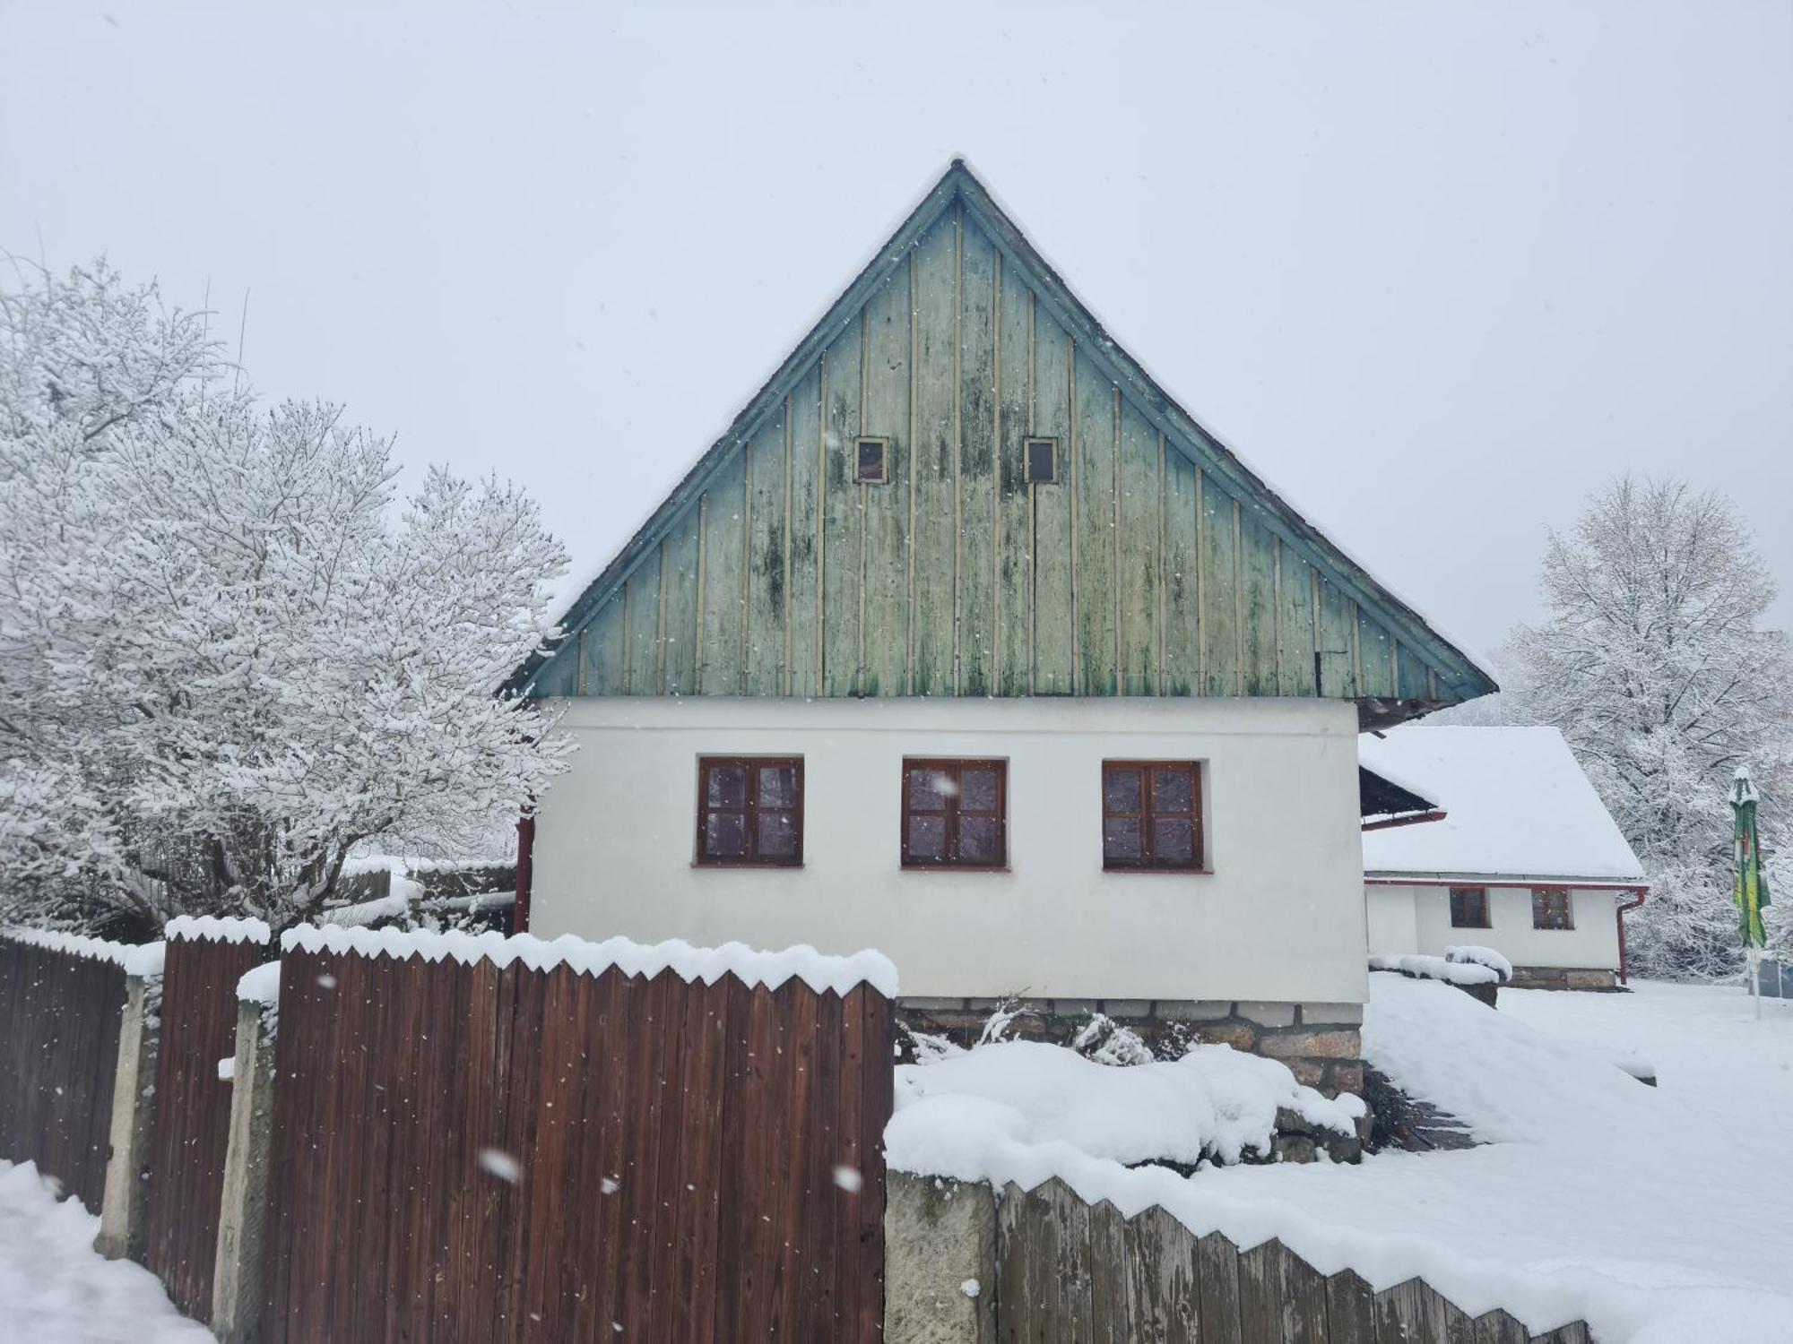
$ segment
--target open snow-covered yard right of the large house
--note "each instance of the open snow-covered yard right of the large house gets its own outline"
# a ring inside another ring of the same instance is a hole
[[[1320,1240],[1420,1238],[1445,1278],[1481,1265],[1603,1344],[1793,1340],[1793,1004],[1754,1021],[1736,987],[1637,984],[1503,989],[1490,1012],[1370,978],[1364,1052],[1486,1147],[1203,1172],[1216,1197],[1275,1201]]]

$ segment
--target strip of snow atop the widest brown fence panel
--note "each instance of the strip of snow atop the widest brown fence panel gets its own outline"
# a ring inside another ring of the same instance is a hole
[[[461,934],[398,928],[317,928],[305,925],[289,928],[280,935],[280,950],[294,952],[359,952],[366,957],[421,957],[423,961],[441,961],[454,957],[463,964],[489,961],[497,966],[509,966],[520,961],[531,969],[545,971],[552,966],[570,966],[586,975],[601,975],[611,968],[626,975],[653,978],[662,971],[672,971],[681,980],[715,984],[724,975],[733,975],[748,987],[764,986],[776,989],[793,977],[803,980],[816,993],[834,991],[852,993],[864,984],[886,998],[896,998],[896,966],[880,952],[855,952],[850,957],[834,957],[816,948],[800,944],[782,952],[762,952],[744,943],[724,943],[717,948],[697,948],[683,939],[665,943],[633,943],[626,937],[611,937],[602,943],[590,943],[583,937],[561,935],[543,941],[529,934]]]

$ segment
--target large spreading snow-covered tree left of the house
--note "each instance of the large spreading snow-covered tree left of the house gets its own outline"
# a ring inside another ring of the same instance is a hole
[[[360,842],[443,844],[563,747],[495,694],[550,633],[518,491],[264,407],[104,265],[0,294],[0,901],[296,923]]]

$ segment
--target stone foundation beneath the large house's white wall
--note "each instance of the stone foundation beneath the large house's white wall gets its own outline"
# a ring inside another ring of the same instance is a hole
[[[1178,1041],[1207,1041],[1280,1059],[1298,1082],[1327,1097],[1363,1095],[1363,1004],[1260,1004],[1171,998],[904,998],[898,1016],[914,1030],[972,1045],[999,1007],[1020,1009],[1009,1036],[1070,1045],[1090,1014],[1131,1029],[1160,1057]],[[1165,1047],[1165,1048],[1160,1048]]]

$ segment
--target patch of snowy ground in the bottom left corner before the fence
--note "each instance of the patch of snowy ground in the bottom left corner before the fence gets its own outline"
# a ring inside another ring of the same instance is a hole
[[[156,1276],[100,1260],[100,1220],[57,1202],[30,1163],[0,1161],[0,1339],[20,1344],[210,1344]]]

